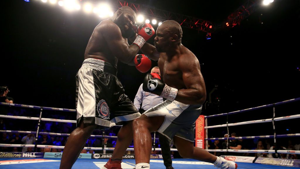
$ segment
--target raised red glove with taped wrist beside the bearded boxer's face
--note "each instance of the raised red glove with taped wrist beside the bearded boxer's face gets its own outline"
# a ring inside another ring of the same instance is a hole
[[[138,45],[140,48],[155,34],[154,28],[149,23],[142,23],[137,28],[137,38],[133,44]]]

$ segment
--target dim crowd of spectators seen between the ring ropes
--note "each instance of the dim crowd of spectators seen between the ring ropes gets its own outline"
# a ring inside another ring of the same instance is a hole
[[[39,109],[28,109],[28,108],[19,108],[19,107],[8,107],[1,106],[1,112],[5,115],[15,115],[15,116],[26,116],[26,117],[39,117]],[[74,112],[57,112],[44,110],[42,114],[43,118],[53,118],[53,119],[65,119],[65,120],[74,120],[75,113]],[[292,121],[295,122],[296,121]],[[214,125],[212,122],[211,125]],[[253,124],[248,124],[253,125]],[[255,124],[254,124],[255,125]],[[261,125],[260,130],[256,128],[253,130],[247,129],[246,126],[239,126],[239,128],[243,128],[243,130],[239,130],[240,133],[236,134],[233,132],[235,130],[234,126],[229,127],[229,130],[232,131],[229,137],[245,137],[245,136],[258,136],[258,135],[266,135],[272,133],[271,128],[272,125],[268,124],[259,124]],[[268,126],[268,127],[267,127]],[[32,120],[23,120],[23,119],[9,119],[9,118],[0,118],[0,130],[10,130],[10,131],[36,131],[38,128],[38,122]],[[283,126],[278,123],[278,128],[282,128]],[[284,126],[287,127],[287,126]],[[75,123],[62,123],[62,122],[52,122],[52,121],[41,121],[40,132],[50,132],[50,133],[63,133],[70,134],[76,128]],[[268,130],[265,130],[267,129]],[[93,135],[98,136],[116,136],[120,129],[120,126],[115,126],[106,131],[95,130]],[[297,129],[292,129],[292,131],[297,131]],[[244,131],[244,132],[241,132]],[[280,131],[280,130],[279,130]],[[212,133],[208,133],[209,137],[225,137],[227,138],[227,130],[224,128],[215,128],[214,131],[208,131]],[[223,136],[223,134],[225,135]],[[285,131],[285,133],[279,134],[288,134],[289,131]],[[272,135],[272,134],[270,134]],[[35,134],[19,134],[19,133],[1,133],[0,143],[4,144],[35,144]],[[32,137],[31,143],[27,143],[25,137]],[[24,140],[25,138],[25,140]],[[47,135],[47,134],[39,134],[37,144],[38,145],[53,145],[53,146],[64,146],[67,141],[67,136],[56,136],[56,135]],[[153,138],[153,133],[152,133]],[[160,147],[159,140],[156,135],[156,147]],[[107,143],[106,143],[107,142]],[[208,149],[227,149],[227,140],[214,140],[208,141]],[[86,142],[86,147],[104,147],[106,143],[106,147],[114,147],[116,145],[116,138],[102,139],[100,137],[90,137]],[[274,139],[236,139],[229,140],[228,149],[235,149],[240,145],[241,147],[238,149],[243,150],[255,150],[255,149],[264,149],[264,150],[273,150],[275,149]],[[175,145],[170,145],[171,148],[176,148]],[[300,148],[300,140],[298,137],[290,137],[290,138],[277,138],[277,149],[280,150],[299,150]],[[134,147],[133,143],[131,143],[130,147]],[[46,150],[45,150],[46,149]],[[22,148],[22,147],[1,147],[1,152],[62,152],[63,149],[55,149],[55,148],[41,148],[41,149],[33,149],[33,148]],[[104,153],[103,150],[82,150],[82,153]],[[112,151],[106,151],[106,154],[112,153]],[[134,151],[127,151],[128,154],[134,154]],[[160,154],[160,151],[152,151],[153,154]],[[298,159],[298,155],[296,154],[271,154],[271,153],[231,153],[231,152],[211,152],[215,155],[239,155],[239,156],[255,156],[255,157],[268,157],[268,158],[288,158],[288,159]],[[181,158],[178,152],[172,152],[173,157]]]

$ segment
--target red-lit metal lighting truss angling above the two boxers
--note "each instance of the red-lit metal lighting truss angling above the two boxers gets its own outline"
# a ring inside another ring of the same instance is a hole
[[[82,1],[82,0],[80,0]],[[149,20],[156,19],[165,21],[165,20],[175,20],[182,27],[195,29],[198,31],[203,31],[207,33],[214,32],[217,29],[226,29],[232,28],[236,25],[239,25],[242,20],[250,16],[256,9],[260,7],[259,2],[262,0],[248,0],[243,5],[241,5],[237,10],[230,14],[222,23],[216,24],[207,20],[202,20],[195,17],[190,17],[187,15],[182,15],[170,11],[165,11],[157,9],[151,6],[132,3],[122,0],[113,0],[111,1],[112,8],[118,10],[122,6],[131,7],[137,14],[143,14],[145,17],[148,17]]]

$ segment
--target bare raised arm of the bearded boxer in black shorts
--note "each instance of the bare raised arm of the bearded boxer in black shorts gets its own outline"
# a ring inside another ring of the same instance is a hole
[[[140,48],[137,45],[128,45],[127,39],[122,37],[121,30],[115,23],[106,22],[99,26],[98,33],[101,33],[107,41],[108,47],[114,56],[122,63],[135,65],[133,59]]]

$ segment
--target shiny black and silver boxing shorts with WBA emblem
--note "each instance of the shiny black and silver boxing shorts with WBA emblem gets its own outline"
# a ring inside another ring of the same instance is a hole
[[[77,126],[82,121],[104,130],[140,116],[116,72],[116,67],[103,60],[83,61],[76,75]]]

